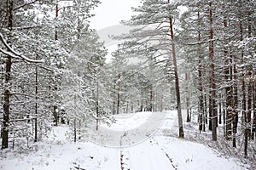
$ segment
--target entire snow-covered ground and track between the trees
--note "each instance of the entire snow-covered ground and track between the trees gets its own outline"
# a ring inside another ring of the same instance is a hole
[[[160,122],[160,120],[165,122]],[[177,133],[177,112],[166,113],[139,112],[129,116],[116,116],[117,122],[111,127],[102,125],[116,132],[131,133],[137,129],[138,135],[143,137],[140,142],[126,143],[119,147],[106,147],[92,142],[73,142],[67,139],[67,126],[55,127],[48,139],[33,144],[29,150],[1,150],[0,169],[4,170],[170,170],[170,169],[247,169],[238,164],[239,160],[221,156],[204,144],[189,142],[165,135],[166,129]],[[149,127],[156,120],[154,130],[139,131],[140,127]],[[157,121],[158,120],[158,121]],[[125,126],[122,126],[122,125]],[[126,138],[134,139],[126,136]],[[102,138],[113,138],[105,135]],[[124,140],[125,139],[118,139]],[[121,141],[121,143],[124,143]],[[137,140],[138,141],[138,140]],[[118,143],[116,143],[118,144]],[[119,141],[120,144],[120,141]]]

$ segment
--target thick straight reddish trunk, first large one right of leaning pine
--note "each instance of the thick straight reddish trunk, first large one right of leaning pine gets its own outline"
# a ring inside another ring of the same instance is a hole
[[[214,71],[214,46],[213,46],[213,28],[212,28],[212,1],[209,2],[209,26],[210,26],[210,31],[209,31],[209,59],[211,60],[211,78],[210,78],[210,83],[211,83],[211,105],[212,105],[212,140],[217,141],[217,107],[216,107],[216,84],[215,84],[215,71]]]

